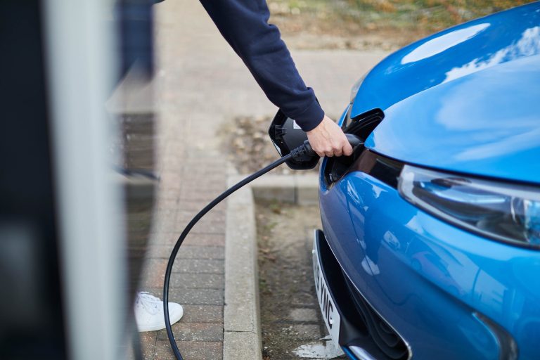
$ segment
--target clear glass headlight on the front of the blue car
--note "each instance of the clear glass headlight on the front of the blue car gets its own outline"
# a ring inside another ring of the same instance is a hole
[[[445,221],[496,240],[540,247],[540,191],[532,186],[405,165],[399,193]]]

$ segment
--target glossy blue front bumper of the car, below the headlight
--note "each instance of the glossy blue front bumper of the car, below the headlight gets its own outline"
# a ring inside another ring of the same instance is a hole
[[[366,316],[344,310],[356,291],[413,359],[539,359],[539,252],[456,229],[362,172],[332,188],[321,181],[320,201],[321,257],[334,263],[325,274],[342,322],[366,328]],[[340,345],[352,338],[340,335]]]

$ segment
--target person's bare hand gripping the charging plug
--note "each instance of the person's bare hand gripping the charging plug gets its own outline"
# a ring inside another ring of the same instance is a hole
[[[309,145],[321,158],[323,156],[351,155],[352,146],[342,129],[330,117],[324,115],[321,124],[307,131]]]

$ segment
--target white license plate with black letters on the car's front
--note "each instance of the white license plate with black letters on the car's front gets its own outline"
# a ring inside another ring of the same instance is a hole
[[[332,342],[336,348],[340,348],[339,338],[340,338],[340,314],[338,309],[335,307],[335,302],[328,291],[328,284],[326,283],[326,278],[324,277],[323,271],[321,270],[321,260],[319,259],[319,249],[317,249],[316,242],[317,235],[315,234],[315,239],[313,243],[313,274],[315,278],[315,290],[317,293],[317,300],[319,300],[319,307],[321,307],[321,313],[323,315],[324,322],[326,323],[326,328]]]

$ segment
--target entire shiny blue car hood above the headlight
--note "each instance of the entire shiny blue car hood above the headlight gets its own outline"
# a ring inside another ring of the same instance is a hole
[[[364,79],[355,117],[385,119],[366,146],[453,172],[540,182],[540,4],[446,30]]]

